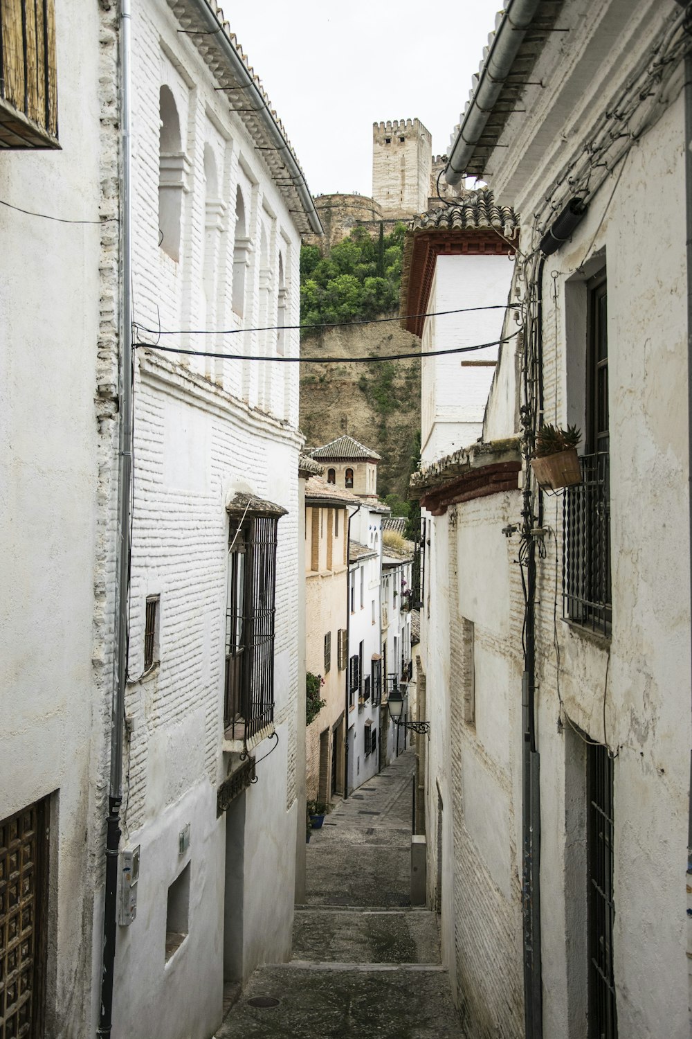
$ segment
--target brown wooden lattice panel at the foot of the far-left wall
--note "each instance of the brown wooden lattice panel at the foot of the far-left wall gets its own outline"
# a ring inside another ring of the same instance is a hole
[[[37,1036],[44,802],[0,822],[0,1039]]]

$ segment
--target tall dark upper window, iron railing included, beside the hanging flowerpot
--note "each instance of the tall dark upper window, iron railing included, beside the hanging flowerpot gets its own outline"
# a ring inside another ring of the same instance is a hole
[[[582,482],[565,489],[562,507],[563,613],[602,635],[610,633],[612,622],[607,300],[602,273],[588,290]]]

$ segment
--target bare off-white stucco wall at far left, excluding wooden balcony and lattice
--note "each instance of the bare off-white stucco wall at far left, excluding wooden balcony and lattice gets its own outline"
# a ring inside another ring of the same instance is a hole
[[[46,1028],[82,1039],[103,863],[90,795],[101,25],[96,5],[56,6],[61,148],[0,162],[8,206],[57,218],[0,207],[0,820],[50,798]]]

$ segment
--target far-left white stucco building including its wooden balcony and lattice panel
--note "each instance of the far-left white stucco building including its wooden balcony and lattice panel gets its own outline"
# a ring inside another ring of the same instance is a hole
[[[100,148],[101,104],[116,82],[110,33],[98,4],[2,8],[3,1036],[86,1039],[98,1010],[96,439],[112,403],[98,393],[96,344],[100,320],[107,323],[102,270],[118,235],[117,199],[102,194],[117,153],[104,159]]]

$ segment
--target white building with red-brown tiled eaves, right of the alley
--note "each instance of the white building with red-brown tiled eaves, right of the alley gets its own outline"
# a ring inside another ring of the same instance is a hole
[[[487,190],[463,192],[453,205],[414,221],[405,245],[405,313],[461,311],[414,319],[423,353],[501,339],[516,232],[515,214]],[[490,309],[467,311],[483,307]],[[514,346],[502,348],[511,364]],[[431,732],[417,749],[428,900],[441,913],[452,988],[468,1023],[475,1020],[468,1005],[478,993],[490,1002],[491,988],[515,1008],[510,1020],[519,1029],[521,915],[507,726],[511,680],[521,685],[521,670],[513,669],[505,623],[514,547],[501,529],[518,506],[520,455],[517,438],[476,443],[498,353],[495,345],[431,356],[422,365],[422,462],[412,495],[424,520],[417,709]],[[508,949],[477,924],[491,905]]]

